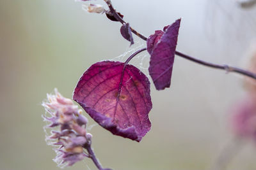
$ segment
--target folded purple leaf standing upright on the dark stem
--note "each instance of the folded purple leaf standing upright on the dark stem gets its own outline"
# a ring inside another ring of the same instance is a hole
[[[179,27],[180,19],[147,39],[147,50],[150,53],[148,71],[157,90],[170,87]]]

